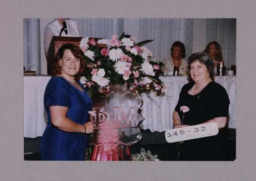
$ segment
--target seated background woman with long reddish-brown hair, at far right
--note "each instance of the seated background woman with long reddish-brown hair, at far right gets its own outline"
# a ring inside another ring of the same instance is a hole
[[[214,67],[215,67],[215,74],[217,73],[216,66],[218,63],[224,63],[224,60],[222,58],[222,48],[221,45],[216,42],[212,41],[210,42],[203,52],[207,52],[211,58],[213,59]]]

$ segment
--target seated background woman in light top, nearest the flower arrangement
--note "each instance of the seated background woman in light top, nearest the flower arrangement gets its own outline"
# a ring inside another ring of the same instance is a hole
[[[188,63],[185,59],[186,51],[185,46],[180,41],[175,41],[171,47],[171,57],[165,58],[163,60],[164,66],[162,66],[162,71],[173,71],[174,66],[179,67],[179,74],[188,72]]]

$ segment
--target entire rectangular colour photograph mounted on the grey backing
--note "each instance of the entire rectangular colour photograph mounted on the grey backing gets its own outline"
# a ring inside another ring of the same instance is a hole
[[[236,161],[236,18],[24,18],[23,61],[26,162]]]

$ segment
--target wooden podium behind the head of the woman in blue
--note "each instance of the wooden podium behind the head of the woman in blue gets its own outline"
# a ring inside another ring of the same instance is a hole
[[[57,37],[53,36],[49,49],[47,52],[47,75],[52,74],[52,64],[54,61],[54,56],[58,52],[61,45],[72,43],[79,47],[80,41],[83,37]]]

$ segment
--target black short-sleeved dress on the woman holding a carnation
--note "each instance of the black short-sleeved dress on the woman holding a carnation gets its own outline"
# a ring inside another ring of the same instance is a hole
[[[183,124],[196,125],[215,117],[229,116],[229,97],[222,85],[210,82],[194,96],[188,91],[195,83],[185,84],[182,87],[179,101],[175,107],[181,121],[183,112],[181,106],[188,106],[189,112],[184,115]],[[226,160],[225,129],[220,129],[216,136],[187,140],[181,143],[179,160],[183,161],[221,161]]]

